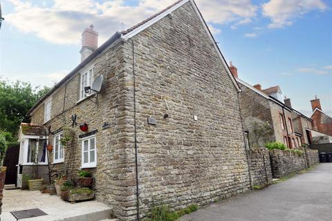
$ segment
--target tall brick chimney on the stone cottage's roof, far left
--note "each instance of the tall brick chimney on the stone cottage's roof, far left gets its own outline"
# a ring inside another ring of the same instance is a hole
[[[93,28],[93,25],[90,25],[82,33],[81,62],[98,48],[98,32],[93,30]]]

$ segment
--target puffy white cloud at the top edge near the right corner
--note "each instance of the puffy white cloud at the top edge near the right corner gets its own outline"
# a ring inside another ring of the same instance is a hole
[[[269,28],[291,26],[293,20],[311,10],[324,10],[321,0],[270,0],[262,6],[263,15],[272,21]]]

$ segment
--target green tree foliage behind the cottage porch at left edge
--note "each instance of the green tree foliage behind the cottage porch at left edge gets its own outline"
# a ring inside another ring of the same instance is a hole
[[[19,124],[29,122],[26,113],[50,88],[33,87],[24,81],[0,79],[0,130],[17,135]]]

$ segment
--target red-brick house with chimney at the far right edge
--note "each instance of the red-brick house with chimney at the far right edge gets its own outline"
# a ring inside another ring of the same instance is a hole
[[[313,108],[313,114],[311,115],[313,128],[315,131],[332,136],[332,117],[322,111],[320,99],[318,99],[317,96],[310,102]]]

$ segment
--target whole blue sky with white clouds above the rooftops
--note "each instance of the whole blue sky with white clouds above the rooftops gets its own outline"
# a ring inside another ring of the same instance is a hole
[[[80,35],[93,23],[100,44],[173,0],[2,0],[0,75],[50,86],[80,61]],[[311,113],[317,95],[332,115],[332,3],[328,0],[196,0],[239,77],[279,85]]]

